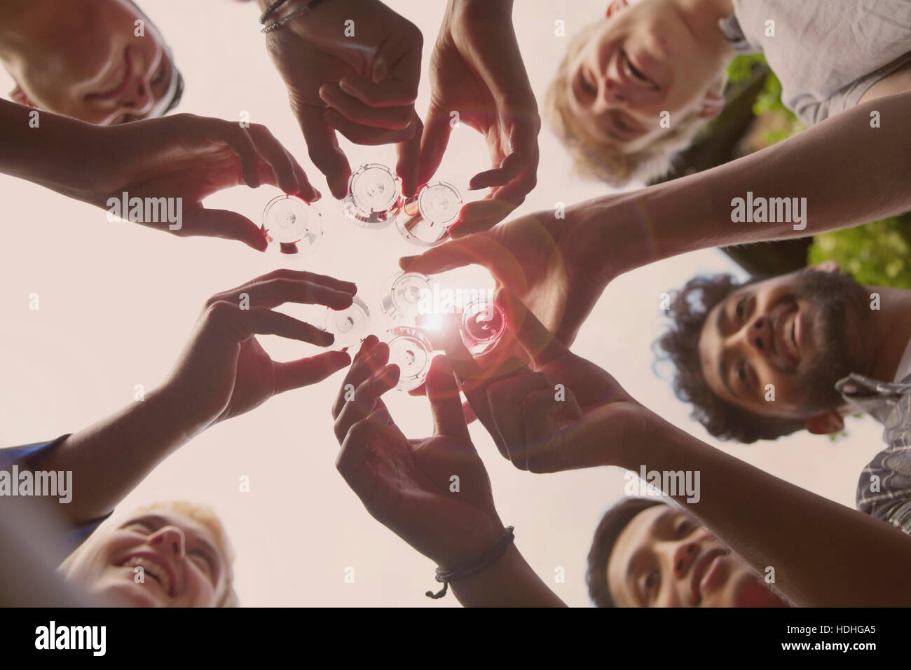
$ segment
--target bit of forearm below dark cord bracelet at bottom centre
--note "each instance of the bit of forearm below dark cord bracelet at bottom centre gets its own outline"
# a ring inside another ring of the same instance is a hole
[[[450,584],[466,607],[565,607],[510,544],[498,561],[473,577]]]

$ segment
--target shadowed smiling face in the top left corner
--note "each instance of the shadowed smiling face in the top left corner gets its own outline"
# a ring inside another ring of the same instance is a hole
[[[142,20],[145,36],[136,36]],[[177,70],[167,46],[125,0],[55,5],[13,73],[17,102],[96,125],[160,116],[174,96]]]

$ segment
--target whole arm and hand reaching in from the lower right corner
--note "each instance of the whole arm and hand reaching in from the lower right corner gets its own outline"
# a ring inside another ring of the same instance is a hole
[[[507,322],[534,371],[486,382],[466,351],[449,359],[496,445],[517,467],[554,472],[599,465],[691,472],[695,490],[665,495],[690,511],[760,575],[809,607],[904,606],[911,537],[889,523],[804,490],[712,448],[630,397],[569,352],[514,296]],[[447,349],[448,354],[448,349]],[[461,372],[460,372],[461,371]],[[555,384],[565,386],[555,397]],[[696,479],[699,473],[699,479]]]

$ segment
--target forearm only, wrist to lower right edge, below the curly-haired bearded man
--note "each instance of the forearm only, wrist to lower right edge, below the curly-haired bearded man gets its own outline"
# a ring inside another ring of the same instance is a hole
[[[906,606],[911,538],[711,448],[655,417],[653,438],[612,463],[634,472],[699,473],[696,494],[670,497],[753,570],[774,568],[775,586],[801,606]],[[662,478],[664,479],[664,478]],[[663,483],[663,482],[662,482]],[[665,491],[670,495],[671,491]],[[689,500],[688,500],[689,499]]]

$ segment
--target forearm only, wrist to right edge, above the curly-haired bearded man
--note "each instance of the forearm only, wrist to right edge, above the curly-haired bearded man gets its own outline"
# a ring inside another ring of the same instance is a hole
[[[870,127],[874,110],[881,128]],[[717,168],[581,203],[580,218],[599,227],[606,249],[616,252],[622,238],[619,272],[626,272],[679,253],[805,237],[894,216],[911,210],[908,118],[911,93],[875,99]],[[746,199],[748,191],[805,198],[805,228],[732,222],[732,200]],[[618,221],[621,232],[612,225]]]

